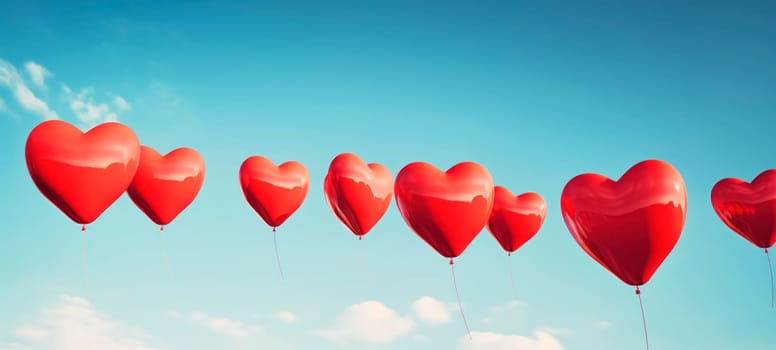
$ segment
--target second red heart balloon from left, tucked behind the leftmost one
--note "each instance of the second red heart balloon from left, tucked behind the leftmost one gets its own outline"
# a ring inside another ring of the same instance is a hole
[[[157,225],[167,225],[197,197],[205,180],[205,161],[191,148],[165,156],[140,147],[140,166],[127,189],[129,198]]]

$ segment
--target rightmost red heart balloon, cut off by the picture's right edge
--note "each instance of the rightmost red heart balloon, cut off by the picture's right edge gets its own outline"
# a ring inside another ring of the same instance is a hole
[[[722,222],[760,248],[776,243],[776,169],[758,175],[752,183],[720,180],[711,190],[711,204]]]

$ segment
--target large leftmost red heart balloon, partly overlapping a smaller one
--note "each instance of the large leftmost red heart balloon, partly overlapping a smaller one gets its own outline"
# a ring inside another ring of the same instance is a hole
[[[130,128],[116,122],[83,133],[67,122],[49,120],[30,132],[25,156],[40,192],[85,225],[127,190],[137,171],[140,143]]]

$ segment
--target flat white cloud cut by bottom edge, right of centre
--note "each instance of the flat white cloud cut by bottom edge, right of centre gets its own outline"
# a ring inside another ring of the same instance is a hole
[[[460,338],[459,350],[563,350],[551,333],[537,330],[533,336],[472,332],[472,338]]]

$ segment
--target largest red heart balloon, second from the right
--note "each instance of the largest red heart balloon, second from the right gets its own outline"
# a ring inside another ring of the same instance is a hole
[[[679,172],[660,160],[634,165],[618,181],[582,174],[561,195],[571,235],[623,282],[649,281],[684,227],[687,192]]]

